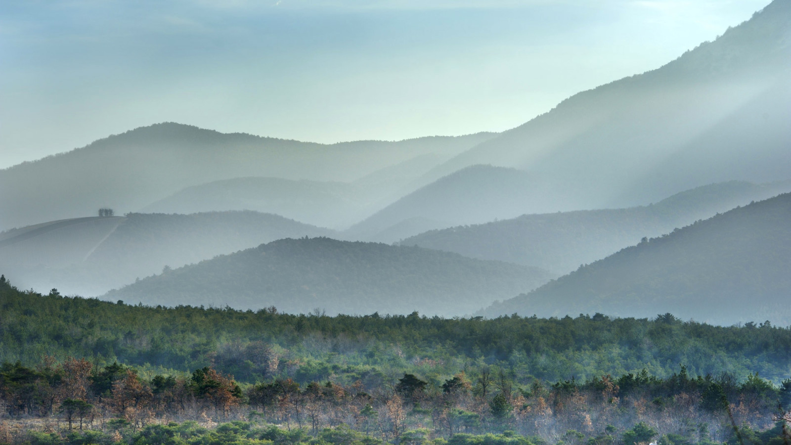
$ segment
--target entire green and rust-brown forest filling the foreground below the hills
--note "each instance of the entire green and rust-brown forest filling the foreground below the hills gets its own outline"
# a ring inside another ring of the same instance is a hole
[[[4,443],[782,443],[791,405],[770,323],[129,306],[5,277],[0,304]]]

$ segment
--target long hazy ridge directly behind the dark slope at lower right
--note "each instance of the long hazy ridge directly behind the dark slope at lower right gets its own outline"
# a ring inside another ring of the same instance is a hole
[[[729,181],[677,193],[642,207],[521,215],[514,219],[430,230],[399,245],[545,268],[559,274],[600,260],[643,237],[658,237],[717,212],[791,192],[791,182]]]

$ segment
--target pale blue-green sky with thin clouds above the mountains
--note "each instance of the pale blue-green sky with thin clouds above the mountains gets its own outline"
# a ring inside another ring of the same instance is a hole
[[[335,143],[504,131],[768,0],[4,0],[0,169],[159,122]]]

